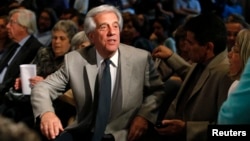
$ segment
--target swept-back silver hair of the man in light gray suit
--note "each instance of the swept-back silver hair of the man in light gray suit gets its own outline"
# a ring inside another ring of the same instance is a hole
[[[94,31],[96,28],[96,23],[94,21],[94,17],[102,12],[114,12],[118,18],[118,23],[120,29],[122,29],[123,26],[123,19],[121,12],[119,9],[117,9],[115,6],[112,5],[100,5],[95,8],[92,8],[86,15],[85,21],[84,21],[84,31],[88,35],[90,32]]]

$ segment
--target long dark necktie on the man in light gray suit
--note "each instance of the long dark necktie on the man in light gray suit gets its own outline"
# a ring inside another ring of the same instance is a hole
[[[96,114],[95,131],[92,141],[101,141],[106,125],[109,119],[110,103],[111,103],[111,76],[110,76],[110,63],[111,61],[106,59],[105,68],[103,70],[102,78],[100,81],[99,89],[99,102]]]

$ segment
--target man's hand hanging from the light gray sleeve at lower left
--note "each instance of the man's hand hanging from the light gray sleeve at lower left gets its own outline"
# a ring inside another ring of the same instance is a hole
[[[55,139],[64,130],[60,119],[53,112],[46,112],[41,116],[40,128],[49,140]]]

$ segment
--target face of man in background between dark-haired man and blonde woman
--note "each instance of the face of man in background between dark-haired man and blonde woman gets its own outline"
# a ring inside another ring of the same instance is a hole
[[[228,51],[230,51],[235,44],[235,39],[238,32],[241,29],[243,29],[243,26],[239,23],[227,23],[226,28],[227,28],[227,48]]]

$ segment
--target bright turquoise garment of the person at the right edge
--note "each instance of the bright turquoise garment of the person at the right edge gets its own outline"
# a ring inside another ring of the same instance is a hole
[[[248,59],[246,67],[240,77],[239,84],[234,91],[228,96],[227,100],[222,104],[219,115],[218,124],[250,124],[250,59]]]

